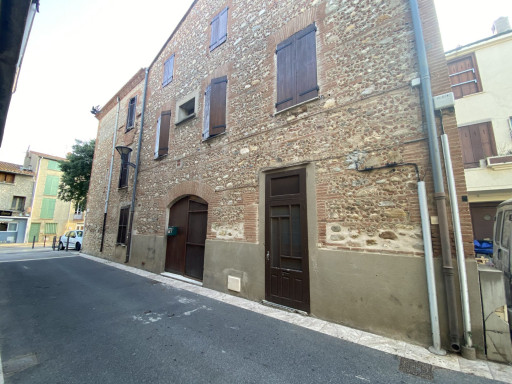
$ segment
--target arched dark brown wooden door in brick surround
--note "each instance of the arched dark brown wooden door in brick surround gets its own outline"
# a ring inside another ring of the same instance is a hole
[[[171,207],[169,226],[178,227],[178,233],[167,237],[167,272],[203,280],[207,221],[208,203],[197,196],[186,196]]]

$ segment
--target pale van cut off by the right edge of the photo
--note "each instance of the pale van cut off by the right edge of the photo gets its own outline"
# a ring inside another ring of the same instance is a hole
[[[498,205],[494,222],[493,261],[505,275],[505,295],[509,312],[512,308],[512,199]],[[512,323],[512,322],[511,322]]]

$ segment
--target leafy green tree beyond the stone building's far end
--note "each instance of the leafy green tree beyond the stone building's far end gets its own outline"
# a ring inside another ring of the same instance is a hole
[[[87,203],[95,141],[75,141],[73,152],[68,153],[67,161],[60,164],[62,177],[59,185],[59,199],[72,201],[75,208],[80,207],[83,210]]]

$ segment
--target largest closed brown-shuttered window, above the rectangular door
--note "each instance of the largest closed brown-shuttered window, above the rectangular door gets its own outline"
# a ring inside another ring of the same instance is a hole
[[[315,32],[311,24],[277,45],[277,111],[318,96]]]

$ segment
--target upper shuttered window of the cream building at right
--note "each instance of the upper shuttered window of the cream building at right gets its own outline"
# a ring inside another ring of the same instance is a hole
[[[448,62],[448,71],[452,92],[456,99],[482,92],[482,83],[474,54]]]

